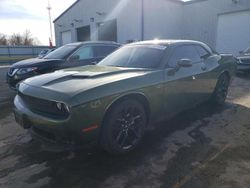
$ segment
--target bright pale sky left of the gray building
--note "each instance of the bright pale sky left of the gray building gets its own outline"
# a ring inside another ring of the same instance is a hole
[[[50,0],[52,21],[75,1]],[[0,0],[0,33],[11,35],[28,29],[41,44],[48,45],[50,30],[47,6],[48,0]]]

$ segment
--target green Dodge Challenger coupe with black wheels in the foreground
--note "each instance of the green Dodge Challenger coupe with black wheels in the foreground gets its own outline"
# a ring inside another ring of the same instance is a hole
[[[189,40],[128,44],[97,65],[29,78],[18,86],[15,118],[45,144],[62,148],[98,143],[126,153],[157,121],[211,99],[223,104],[236,69]]]

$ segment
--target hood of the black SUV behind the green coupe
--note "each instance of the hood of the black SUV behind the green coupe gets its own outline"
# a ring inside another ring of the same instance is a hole
[[[12,65],[12,68],[26,68],[31,66],[39,66],[40,64],[49,63],[53,61],[61,61],[59,59],[39,59],[39,58],[32,58],[32,59],[25,59],[22,61],[18,61]]]

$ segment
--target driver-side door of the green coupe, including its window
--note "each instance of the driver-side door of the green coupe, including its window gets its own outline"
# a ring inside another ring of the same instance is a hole
[[[165,111],[171,115],[190,108],[197,102],[201,85],[197,75],[202,72],[201,59],[192,45],[179,45],[170,50],[165,70]],[[178,61],[191,60],[189,67],[181,67]]]

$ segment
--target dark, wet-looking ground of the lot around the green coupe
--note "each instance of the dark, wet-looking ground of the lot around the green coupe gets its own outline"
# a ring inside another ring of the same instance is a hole
[[[125,156],[97,149],[51,153],[14,121],[15,95],[0,67],[0,187],[242,188],[250,185],[250,78],[227,103],[183,112],[148,132]]]

